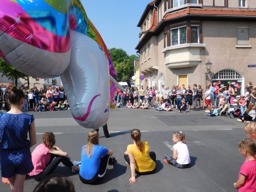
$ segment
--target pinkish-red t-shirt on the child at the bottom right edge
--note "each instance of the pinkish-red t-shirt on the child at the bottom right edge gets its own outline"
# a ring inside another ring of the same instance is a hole
[[[240,176],[246,177],[244,186],[238,189],[239,192],[255,192],[256,191],[256,159],[251,161],[245,161],[239,172],[238,179]]]

